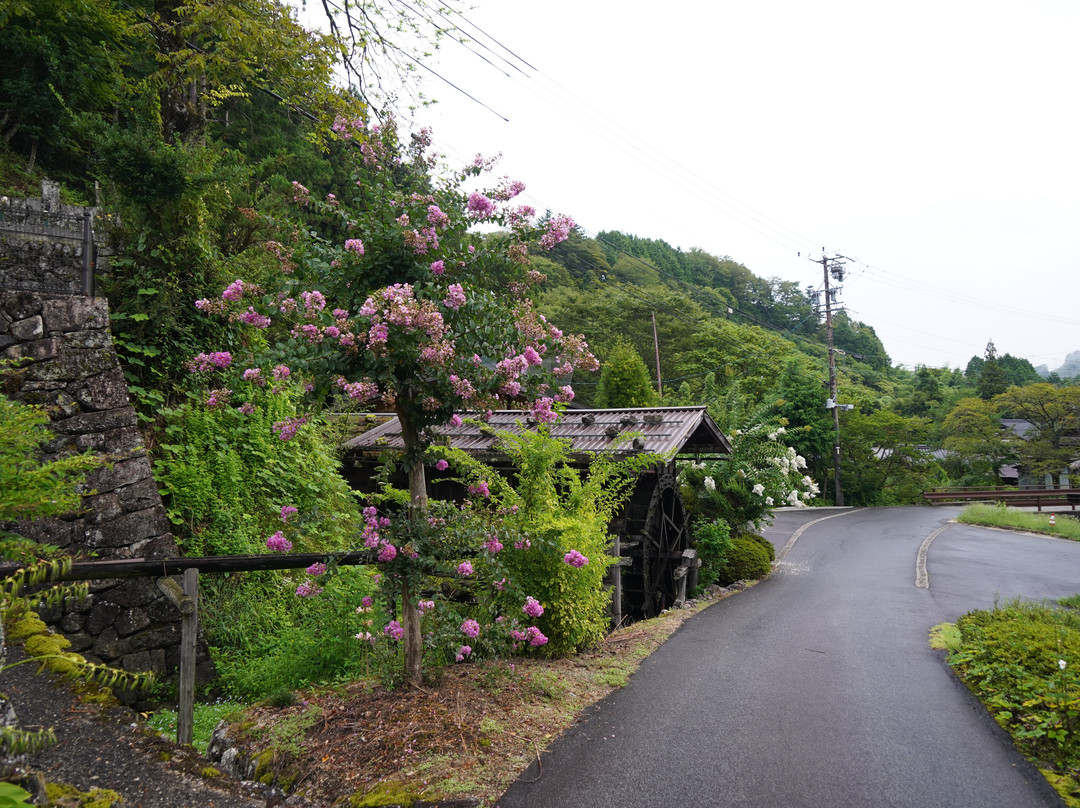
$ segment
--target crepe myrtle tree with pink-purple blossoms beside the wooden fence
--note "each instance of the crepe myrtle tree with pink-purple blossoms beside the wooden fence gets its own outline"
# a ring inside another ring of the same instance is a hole
[[[405,445],[405,520],[418,526],[427,523],[423,461],[440,427],[459,423],[462,412],[483,418],[509,400],[531,402],[536,421],[553,421],[573,398],[573,369],[596,369],[585,341],[549,323],[527,297],[543,279],[530,269],[529,247],[550,250],[573,221],[538,224],[531,207],[513,202],[521,183],[468,190],[494,166],[478,156],[436,178],[427,131],[405,147],[392,121],[339,120],[334,130],[354,146],[353,184],[316,200],[294,183],[298,223],[266,245],[278,270],[195,302],[248,326],[245,344],[259,349],[203,353],[190,367],[215,379],[207,404],[245,412],[254,406],[245,391],[300,380],[310,412],[275,423],[282,440],[334,398],[392,409]],[[477,225],[497,229],[480,234]],[[437,561],[437,538],[402,527],[384,531],[409,536],[402,547],[376,533],[365,543],[401,582],[406,675],[419,684],[417,588]]]

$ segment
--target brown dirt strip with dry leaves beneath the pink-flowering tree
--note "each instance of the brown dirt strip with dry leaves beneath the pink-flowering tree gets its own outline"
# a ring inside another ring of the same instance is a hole
[[[700,608],[617,631],[568,659],[455,665],[422,689],[354,683],[305,692],[288,708],[251,708],[230,735],[247,758],[261,754],[269,764],[272,756],[279,782],[321,802],[367,795],[378,804],[386,794],[388,803],[392,795],[406,804],[471,797],[494,805]]]

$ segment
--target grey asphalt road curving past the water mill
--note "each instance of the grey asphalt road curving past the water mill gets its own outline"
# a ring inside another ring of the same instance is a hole
[[[1062,805],[927,636],[1077,593],[1080,543],[949,525],[958,510],[778,514],[781,550],[802,530],[772,577],[688,620],[498,805]]]

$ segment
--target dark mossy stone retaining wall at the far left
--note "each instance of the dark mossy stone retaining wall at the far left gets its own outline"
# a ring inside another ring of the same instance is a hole
[[[49,206],[55,212],[58,201]],[[12,210],[23,210],[10,201],[0,207],[9,216]],[[63,207],[72,217],[81,215],[80,208]],[[10,230],[4,235],[18,240]],[[27,238],[31,245],[43,243]],[[172,525],[113,349],[108,302],[26,289],[27,279],[42,282],[39,286],[70,288],[72,279],[77,282],[81,275],[82,261],[81,255],[60,250],[67,260],[51,265],[43,274],[38,265],[17,258],[24,253],[0,250],[0,359],[21,363],[6,374],[3,392],[48,410],[55,436],[44,446],[45,459],[90,450],[108,462],[87,475],[79,513],[4,527],[84,557],[176,557]],[[91,597],[81,604],[41,615],[64,632],[72,650],[129,671],[168,674],[178,669],[179,614],[154,579],[92,581],[90,591]],[[206,682],[213,669],[204,648],[200,662],[199,678]]]

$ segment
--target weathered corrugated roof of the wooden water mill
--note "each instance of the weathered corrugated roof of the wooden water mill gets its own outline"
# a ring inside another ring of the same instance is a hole
[[[495,455],[495,432],[519,432],[535,426],[529,413],[501,409],[492,413],[486,423],[465,421],[460,427],[444,426],[440,434],[450,445],[475,455]],[[637,434],[640,445],[634,446],[626,433]],[[704,407],[642,407],[634,409],[570,409],[551,425],[553,437],[570,441],[570,454],[596,452],[632,452],[657,454],[694,453],[728,454],[731,444]],[[349,454],[381,449],[403,449],[397,418],[368,430],[345,444]]]

